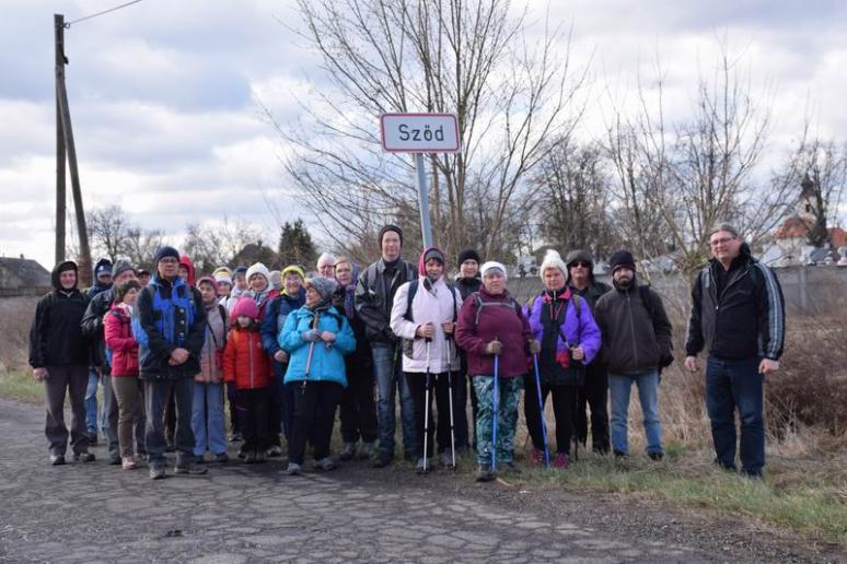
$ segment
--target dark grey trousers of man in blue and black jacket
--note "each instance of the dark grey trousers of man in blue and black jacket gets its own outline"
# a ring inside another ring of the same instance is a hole
[[[194,378],[178,380],[143,380],[144,404],[147,408],[147,458],[151,468],[165,466],[164,403],[167,390],[173,384],[176,403],[176,466],[187,466],[194,457],[194,432],[192,431],[192,403],[194,402]]]

